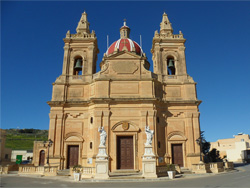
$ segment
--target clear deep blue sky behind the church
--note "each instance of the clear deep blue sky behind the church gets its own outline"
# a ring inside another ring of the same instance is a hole
[[[152,38],[164,11],[186,41],[208,141],[250,134],[250,2],[1,2],[1,127],[49,128],[52,83],[61,74],[63,38],[86,11],[100,53],[119,38],[123,19],[152,70]]]

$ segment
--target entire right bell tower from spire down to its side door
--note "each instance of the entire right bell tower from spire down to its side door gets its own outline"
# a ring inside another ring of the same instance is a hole
[[[165,107],[161,106],[157,111],[167,125],[164,128],[159,126],[158,139],[161,143],[165,142],[164,157],[167,161],[177,164],[176,161],[179,159],[176,156],[185,151],[185,154],[180,154],[183,158],[178,164],[191,166],[199,161],[200,156],[200,146],[195,144],[195,141],[200,137],[201,101],[197,99],[196,83],[187,74],[185,41],[181,31],[179,34],[173,34],[172,25],[164,13],[160,32],[155,31],[151,49],[154,73],[157,74],[160,83],[156,94],[157,92],[162,94],[159,97],[162,98],[162,106]],[[177,129],[178,131],[173,131]],[[162,132],[165,132],[165,138],[160,137]],[[178,135],[178,138],[173,135]],[[180,147],[178,151],[177,147]],[[159,150],[159,156],[163,156],[164,152],[161,152]]]

